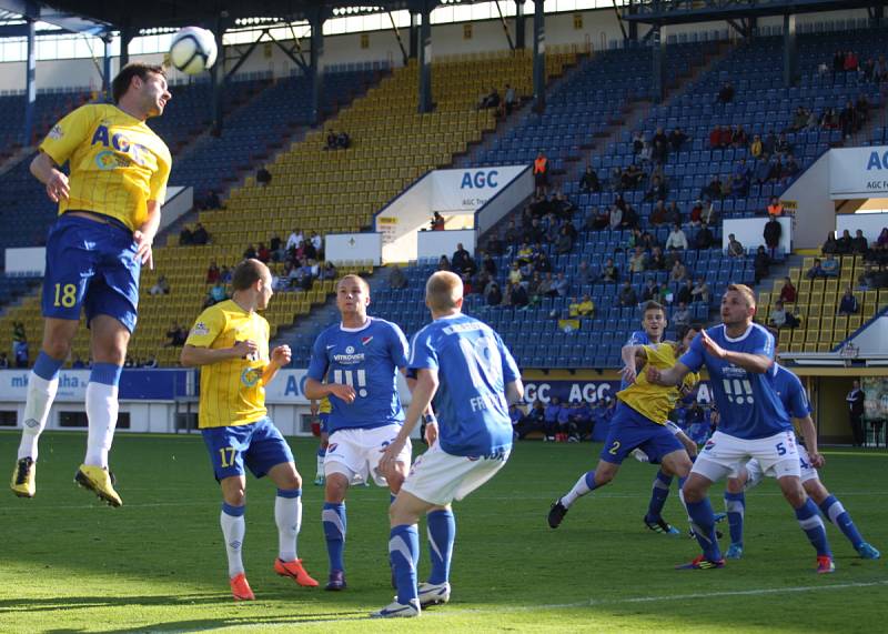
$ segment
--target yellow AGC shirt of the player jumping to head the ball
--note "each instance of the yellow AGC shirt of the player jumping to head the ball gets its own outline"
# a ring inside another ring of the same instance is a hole
[[[102,213],[139,229],[148,202],[163,204],[172,158],[167,144],[144,121],[110,104],[78,108],[56,125],[40,144],[59,165],[70,162],[69,210]]]

